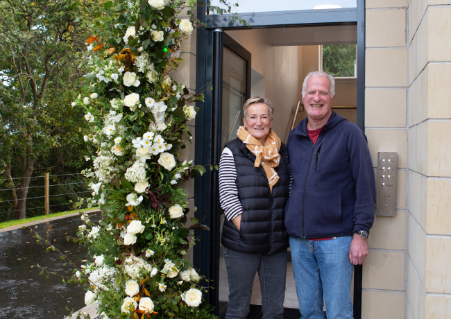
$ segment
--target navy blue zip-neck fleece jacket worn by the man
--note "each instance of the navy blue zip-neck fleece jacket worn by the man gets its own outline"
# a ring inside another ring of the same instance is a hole
[[[302,239],[369,232],[375,213],[375,179],[366,136],[332,112],[314,145],[307,118],[288,137],[291,194],[285,206],[289,236]]]

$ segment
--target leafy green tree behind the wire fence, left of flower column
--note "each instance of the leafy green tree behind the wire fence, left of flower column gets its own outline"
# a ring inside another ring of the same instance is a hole
[[[26,217],[35,161],[60,145],[65,122],[73,119],[62,119],[67,112],[61,110],[71,107],[68,101],[83,71],[79,53],[87,36],[79,16],[93,6],[94,1],[83,6],[68,0],[0,1],[0,164],[17,218]],[[12,179],[14,169],[21,175],[20,187]]]

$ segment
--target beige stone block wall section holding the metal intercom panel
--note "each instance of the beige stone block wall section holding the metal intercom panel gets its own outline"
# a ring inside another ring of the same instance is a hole
[[[407,0],[366,1],[365,133],[377,152],[398,154],[396,216],[376,216],[363,266],[362,317],[405,318],[408,136]]]

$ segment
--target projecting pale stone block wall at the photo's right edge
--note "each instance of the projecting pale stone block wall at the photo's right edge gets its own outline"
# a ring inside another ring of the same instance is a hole
[[[410,0],[406,318],[451,316],[451,1]]]

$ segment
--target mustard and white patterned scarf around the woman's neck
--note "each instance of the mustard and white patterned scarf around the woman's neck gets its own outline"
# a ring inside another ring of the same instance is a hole
[[[275,172],[273,167],[279,166],[280,163],[280,138],[275,134],[273,130],[269,131],[269,135],[266,136],[264,145],[262,145],[255,137],[249,134],[249,132],[240,126],[237,131],[238,138],[246,144],[248,150],[255,155],[254,166],[258,167],[262,164],[266,178],[268,178],[269,189],[273,193],[273,186],[279,180],[279,175]]]

